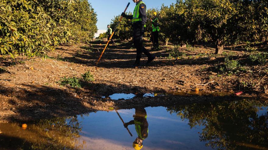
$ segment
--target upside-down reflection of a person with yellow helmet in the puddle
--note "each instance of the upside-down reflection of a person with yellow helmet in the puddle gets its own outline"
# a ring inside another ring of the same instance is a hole
[[[125,127],[128,125],[134,125],[138,134],[138,137],[133,142],[133,148],[136,150],[140,150],[143,148],[143,140],[148,136],[148,122],[147,122],[147,114],[144,108],[136,108],[135,115],[133,115],[134,120],[125,123]]]

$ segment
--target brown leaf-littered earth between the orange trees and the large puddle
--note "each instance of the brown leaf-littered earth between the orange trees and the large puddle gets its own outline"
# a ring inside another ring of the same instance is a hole
[[[169,58],[174,45],[150,50],[157,59],[146,66],[143,55],[139,68],[130,68],[136,57],[131,42],[110,45],[96,65],[105,41],[90,44],[60,46],[48,53],[48,57],[28,59],[8,56],[0,58],[0,122],[25,121],[43,118],[77,115],[111,108],[169,106],[220,100],[252,98],[267,100],[268,64],[247,63],[248,54],[241,46],[235,51],[226,47],[223,55],[214,55],[212,45],[192,45],[181,48],[186,55]],[[146,48],[151,49],[147,41]],[[261,51],[267,51],[260,45]],[[236,74],[222,73],[219,65],[225,57],[232,57],[247,68]],[[93,82],[83,88],[62,86],[63,77],[81,77],[90,71]],[[245,84],[242,83],[247,83]],[[206,84],[207,83],[207,84]],[[195,89],[199,88],[199,93]],[[243,91],[240,96],[235,92]],[[143,98],[144,93],[158,96]],[[108,97],[114,93],[134,93],[132,100],[114,101]],[[160,96],[159,96],[160,95]]]

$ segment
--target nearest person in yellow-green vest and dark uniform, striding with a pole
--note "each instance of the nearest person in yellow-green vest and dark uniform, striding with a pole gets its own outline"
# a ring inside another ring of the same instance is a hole
[[[147,64],[153,61],[156,57],[143,46],[143,34],[145,23],[147,21],[146,17],[146,5],[142,0],[133,0],[136,3],[136,7],[134,9],[133,15],[126,15],[124,12],[122,16],[124,18],[132,19],[132,26],[134,30],[134,46],[137,49],[137,56],[133,68],[137,68],[140,65],[140,58],[142,53],[144,53],[148,57]]]

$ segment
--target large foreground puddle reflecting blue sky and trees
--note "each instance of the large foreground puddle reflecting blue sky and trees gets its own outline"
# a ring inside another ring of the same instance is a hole
[[[124,122],[140,119],[143,131],[148,123],[144,150],[268,149],[267,112],[267,105],[252,100],[118,110]],[[0,124],[0,149],[134,150],[138,136],[129,125],[130,136],[115,111],[27,125]]]

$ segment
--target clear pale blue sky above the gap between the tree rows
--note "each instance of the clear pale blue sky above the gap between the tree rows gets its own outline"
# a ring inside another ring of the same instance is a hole
[[[121,15],[124,12],[126,5],[130,2],[127,12],[133,12],[135,3],[132,0],[88,0],[97,12],[97,27],[99,30],[106,30],[111,19],[116,15]],[[161,8],[161,5],[169,6],[171,3],[176,3],[176,0],[143,0],[148,8]]]

